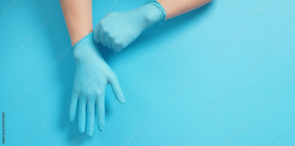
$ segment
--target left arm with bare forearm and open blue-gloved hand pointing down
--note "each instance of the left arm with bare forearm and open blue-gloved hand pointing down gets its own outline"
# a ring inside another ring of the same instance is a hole
[[[107,65],[93,41],[91,0],[72,0],[67,4],[64,1],[67,0],[60,0],[60,4],[76,62],[69,118],[70,121],[74,120],[79,102],[79,132],[84,132],[87,128],[87,135],[91,137],[94,133],[95,115],[99,130],[104,130],[106,86],[112,86],[114,95],[120,103],[124,103],[125,99],[117,76]]]

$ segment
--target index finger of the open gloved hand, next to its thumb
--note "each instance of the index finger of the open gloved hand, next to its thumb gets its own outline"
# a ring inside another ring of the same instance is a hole
[[[96,97],[96,114],[97,114],[97,124],[99,131],[104,130],[104,116],[105,116],[105,109],[104,109],[104,96],[105,90],[102,93],[99,93]]]

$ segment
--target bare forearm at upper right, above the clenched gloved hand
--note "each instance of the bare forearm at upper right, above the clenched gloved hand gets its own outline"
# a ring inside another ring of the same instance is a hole
[[[166,20],[197,9],[212,0],[157,0],[165,9]]]

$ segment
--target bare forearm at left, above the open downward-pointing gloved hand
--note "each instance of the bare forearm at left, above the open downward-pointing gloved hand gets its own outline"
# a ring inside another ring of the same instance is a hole
[[[93,31],[92,0],[60,0],[72,46]]]

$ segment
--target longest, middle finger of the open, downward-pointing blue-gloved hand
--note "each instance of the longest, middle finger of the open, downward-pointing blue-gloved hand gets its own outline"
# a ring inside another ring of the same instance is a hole
[[[95,124],[95,98],[89,98],[87,101],[87,136],[91,137],[94,132]]]

